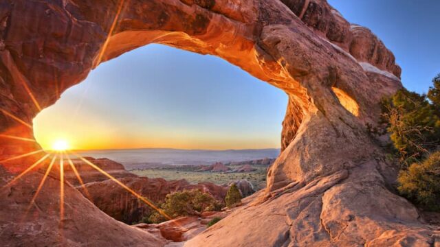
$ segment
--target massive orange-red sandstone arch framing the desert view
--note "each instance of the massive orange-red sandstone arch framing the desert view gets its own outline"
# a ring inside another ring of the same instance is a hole
[[[325,0],[0,1],[0,131],[32,138],[29,126],[41,108],[101,62],[149,43],[219,56],[289,95],[283,152],[268,172],[267,189],[186,246],[439,244],[439,232],[421,222],[415,207],[388,191],[395,167],[364,127],[377,121],[380,99],[401,88],[400,68],[376,36],[350,25]],[[357,114],[335,89],[357,105]],[[0,158],[37,146],[2,137]],[[2,180],[27,167],[29,158],[4,163]],[[28,188],[38,183],[26,181]],[[21,235],[12,233],[28,229],[12,216],[28,202],[17,199],[25,195],[23,186],[2,188],[8,200],[0,200],[0,228],[8,231],[0,231],[0,242],[6,245],[19,242]],[[44,194],[47,200],[54,195]],[[93,241],[94,235],[76,236],[98,219],[102,228],[123,229],[94,228],[102,238],[120,234],[118,241],[134,241],[131,246],[163,244],[147,233],[133,238],[129,226],[96,207],[84,211],[87,202],[74,189],[66,196],[78,203],[69,211],[76,227],[64,235],[72,246]],[[54,226],[48,217],[54,205],[39,205],[35,217],[42,226]],[[80,224],[92,211],[89,224]],[[47,227],[26,237],[42,246],[63,240]]]

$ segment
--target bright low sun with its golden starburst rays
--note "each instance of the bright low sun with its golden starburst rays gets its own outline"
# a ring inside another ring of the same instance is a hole
[[[102,48],[100,49],[98,56],[96,57],[95,66],[97,66],[101,62],[101,60],[105,54],[107,46],[109,45],[109,40],[110,40],[111,34],[113,34],[113,31],[117,27],[118,20],[120,19],[120,14],[122,13],[123,7],[124,7],[124,0],[119,0],[118,8],[117,8],[117,10],[115,12],[115,16],[111,22],[110,29],[107,34],[107,38],[104,41],[104,44],[102,45]],[[30,101],[32,101],[35,108],[38,111],[41,111],[42,107],[39,104],[34,93],[32,93],[32,84],[30,84],[26,78],[17,78],[17,80],[19,82],[21,82],[21,85],[23,86],[25,92],[30,97]],[[59,90],[60,89],[58,89],[58,83],[57,83],[56,84],[56,91],[57,91],[58,96],[59,96],[59,92],[58,92]],[[3,113],[3,115],[5,117],[8,117],[8,118],[16,121],[18,124],[25,126],[25,128],[29,128],[30,131],[33,130],[32,124],[28,123],[28,121],[21,119],[20,117],[17,117],[17,115],[10,113],[8,110],[0,108],[0,113]],[[15,136],[15,135],[12,135],[9,133],[1,133],[0,138],[11,139],[14,141],[36,143],[36,140],[33,138],[19,137],[19,136]],[[38,146],[38,145],[36,145],[36,146]],[[168,220],[172,220],[172,218],[169,215],[167,215],[166,213],[164,213],[164,211],[162,211],[161,209],[156,207],[155,204],[153,204],[148,199],[141,196],[139,193],[137,193],[136,191],[134,191],[133,189],[131,189],[130,187],[128,187],[124,183],[122,183],[120,180],[111,176],[111,174],[105,172],[103,169],[101,169],[100,167],[98,167],[94,163],[91,163],[83,156],[80,156],[74,152],[69,152],[68,150],[69,150],[69,144],[66,141],[58,140],[52,146],[52,150],[43,150],[43,149],[32,150],[30,152],[19,154],[17,156],[12,156],[12,157],[6,156],[5,159],[0,161],[0,165],[3,165],[3,163],[8,163],[10,161],[21,161],[23,158],[28,158],[28,157],[32,157],[32,158],[34,158],[34,160],[36,160],[34,163],[32,163],[32,165],[30,165],[29,167],[24,169],[23,172],[19,173],[17,176],[12,178],[12,180],[10,180],[8,183],[6,183],[6,185],[2,185],[1,189],[5,189],[5,188],[10,189],[14,186],[17,186],[17,183],[19,182],[19,180],[22,180],[23,178],[25,178],[26,175],[29,175],[31,172],[36,172],[37,170],[42,171],[45,169],[43,176],[42,176],[41,180],[39,181],[39,185],[38,185],[38,187],[36,187],[34,195],[32,196],[32,200],[30,200],[30,204],[28,205],[27,210],[23,214],[23,219],[25,218],[25,216],[29,213],[29,211],[33,207],[38,208],[37,200],[39,198],[39,195],[41,194],[41,191],[43,191],[43,189],[45,187],[45,183],[48,180],[47,178],[49,176],[51,176],[51,178],[59,179],[59,186],[60,186],[60,189],[59,189],[59,219],[60,219],[61,223],[63,222],[65,215],[67,215],[66,214],[67,208],[65,207],[65,192],[66,192],[65,191],[65,189],[66,189],[65,183],[70,185],[68,183],[68,181],[65,179],[65,165],[66,165],[66,163],[72,169],[72,172],[75,174],[76,179],[78,180],[78,182],[80,184],[80,187],[83,189],[83,191],[85,191],[85,195],[87,196],[87,198],[89,198],[89,200],[91,200],[91,196],[89,194],[89,191],[87,191],[87,187],[85,186],[84,180],[81,178],[80,173],[78,172],[78,169],[76,169],[75,163],[70,158],[70,155],[74,155],[74,156],[78,157],[80,161],[83,161],[86,165],[89,165],[90,167],[96,169],[98,172],[100,172],[104,176],[107,176],[107,178],[111,179],[114,183],[116,183],[117,185],[119,185],[124,190],[128,191],[129,193],[131,193],[131,195],[133,195],[135,198],[144,202],[144,204],[148,205],[148,207],[151,207],[151,209],[154,209],[155,211],[157,211],[158,213],[160,213],[161,215],[166,217]],[[43,156],[37,156],[40,153],[43,153]],[[56,162],[56,161],[58,161],[58,162]],[[25,163],[25,162],[28,162],[28,160],[23,161],[23,163]],[[47,165],[47,163],[49,163],[49,164]],[[54,168],[56,168],[56,167],[58,167],[58,169],[59,169],[59,175],[58,175],[58,173],[53,171]],[[57,176],[59,176],[59,178]]]

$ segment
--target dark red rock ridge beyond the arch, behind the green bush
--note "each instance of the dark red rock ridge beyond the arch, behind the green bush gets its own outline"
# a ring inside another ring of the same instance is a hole
[[[163,178],[146,177],[127,177],[120,178],[119,180],[155,205],[164,202],[165,196],[168,193],[184,189],[199,189],[205,193],[210,193],[210,195],[220,201],[225,198],[227,192],[227,188],[214,185],[213,183],[190,185],[186,180],[167,181]],[[127,224],[140,222],[142,217],[149,215],[153,211],[151,207],[135,198],[112,180],[88,183],[85,185],[85,189],[91,197],[90,200],[99,209],[116,220],[126,222]],[[80,191],[84,196],[89,196],[85,189]]]

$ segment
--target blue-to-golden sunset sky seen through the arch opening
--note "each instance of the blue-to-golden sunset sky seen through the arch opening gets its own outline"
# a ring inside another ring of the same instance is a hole
[[[34,119],[43,148],[279,148],[287,95],[214,56],[147,45],[104,62]]]

